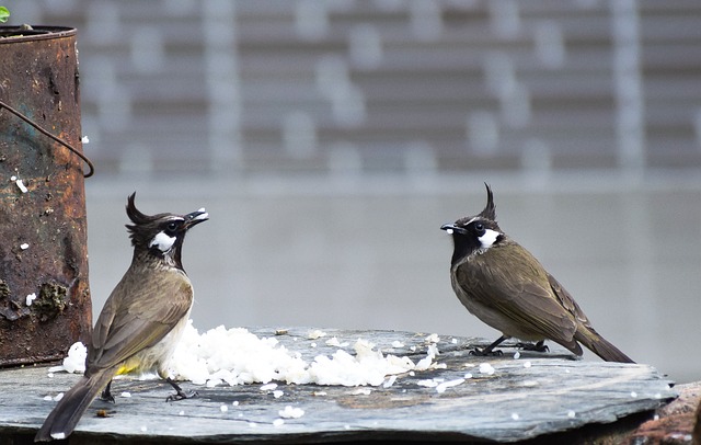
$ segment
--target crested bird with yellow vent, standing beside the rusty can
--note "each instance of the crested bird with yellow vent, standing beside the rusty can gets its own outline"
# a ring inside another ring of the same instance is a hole
[[[174,389],[168,400],[186,393],[171,378],[169,360],[182,336],[193,305],[193,286],[181,261],[185,233],[209,219],[200,208],[187,215],[146,215],[127,198],[126,225],[134,255],[129,269],[107,298],[88,342],[85,372],[66,392],[38,430],[35,442],[68,437],[102,390],[113,401],[112,378],[156,370]]]

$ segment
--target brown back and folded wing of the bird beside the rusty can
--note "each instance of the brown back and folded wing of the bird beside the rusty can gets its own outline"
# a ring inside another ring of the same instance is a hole
[[[127,274],[95,323],[88,365],[107,368],[161,341],[187,315],[193,300],[182,273]]]

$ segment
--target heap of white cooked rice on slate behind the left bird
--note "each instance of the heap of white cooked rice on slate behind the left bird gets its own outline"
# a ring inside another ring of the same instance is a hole
[[[308,339],[321,336],[323,332],[312,331]],[[308,362],[299,352],[289,351],[279,344],[275,336],[258,338],[243,328],[225,327],[199,334],[191,320],[173,354],[171,370],[177,380],[191,380],[195,385],[208,387],[267,384],[273,380],[287,384],[379,386],[388,376],[437,366],[434,362],[438,355],[435,344],[428,346],[426,356],[417,363],[407,356],[382,354],[372,343],[363,339],[357,339],[350,345],[332,338],[325,344],[340,347],[331,355],[320,354]],[[343,347],[352,347],[354,353]],[[82,344],[76,343],[64,365],[50,368],[49,373],[84,372],[84,351]]]

